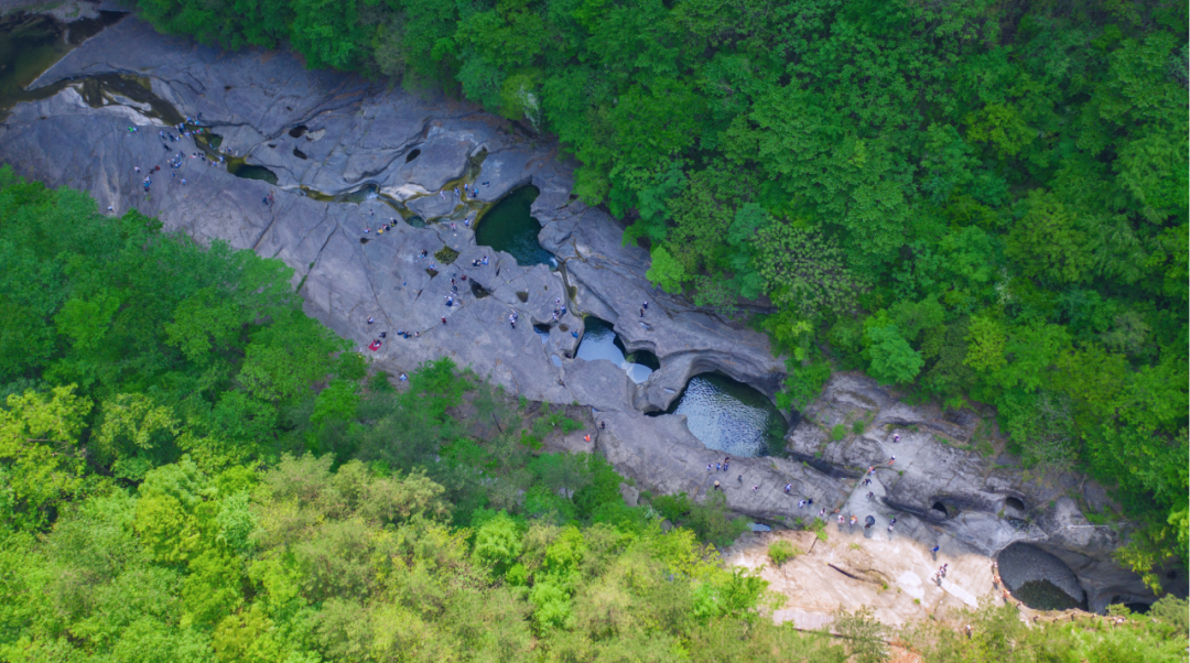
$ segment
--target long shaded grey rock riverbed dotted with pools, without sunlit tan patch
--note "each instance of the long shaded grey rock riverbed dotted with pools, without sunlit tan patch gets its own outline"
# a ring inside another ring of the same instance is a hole
[[[625,246],[614,219],[571,195],[571,167],[555,144],[514,124],[433,94],[309,71],[287,52],[195,45],[132,18],[32,87],[46,98],[17,105],[0,125],[0,161],[88,190],[113,214],[136,207],[167,230],[284,261],[307,312],[378,368],[408,371],[450,356],[527,399],[587,406],[591,424],[606,429],[562,446],[599,450],[653,492],[700,498],[721,480],[731,508],[771,525],[821,507],[897,517],[896,537],[919,552],[947,542],[987,559],[1032,542],[1070,565],[1092,609],[1153,599],[1110,561],[1117,531],[1079,511],[1079,501],[1107,508],[1102,489],[1077,477],[1040,483],[960,449],[979,425],[975,413],[909,407],[863,377],[832,380],[790,432],[791,455],[734,459],[731,477],[708,473],[721,452],[706,449],[683,417],[646,413],[665,411],[693,376],[710,371],[771,396],[783,363],[762,334],[653,288],[647,252]],[[218,136],[234,168],[205,158],[214,143],[161,138],[183,118],[200,119],[205,138]],[[178,152],[182,165],[170,168]],[[245,167],[271,175],[231,171]],[[464,184],[474,193],[462,194]],[[557,269],[521,265],[475,242],[487,208],[527,184],[540,192],[532,214]],[[382,224],[390,230],[380,233]],[[457,294],[452,277],[463,286]],[[555,319],[559,302],[566,312]],[[610,323],[627,351],[651,352],[660,368],[637,383],[615,363],[576,357],[583,314]],[[381,331],[386,342],[367,350]],[[858,418],[864,433],[852,432]],[[840,423],[852,427],[833,439]],[[869,467],[878,468],[872,486],[860,486]],[[814,508],[798,509],[803,499]]]

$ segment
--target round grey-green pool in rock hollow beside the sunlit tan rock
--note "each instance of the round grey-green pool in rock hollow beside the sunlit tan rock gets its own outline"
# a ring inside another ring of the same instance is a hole
[[[1022,603],[1042,611],[1086,609],[1086,593],[1075,571],[1056,555],[1014,543],[996,557],[1000,576]]]

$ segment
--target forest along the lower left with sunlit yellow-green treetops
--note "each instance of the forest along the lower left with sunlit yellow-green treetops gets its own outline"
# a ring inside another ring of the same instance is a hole
[[[1185,661],[1173,598],[989,603],[971,638],[775,625],[715,555],[722,503],[627,506],[601,457],[543,451],[580,421],[449,359],[369,371],[292,277],[0,168],[0,661]]]

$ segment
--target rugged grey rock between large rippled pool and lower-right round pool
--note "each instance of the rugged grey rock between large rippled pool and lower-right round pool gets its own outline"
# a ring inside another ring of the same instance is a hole
[[[844,514],[898,518],[898,532],[914,531],[923,542],[954,539],[985,556],[1031,543],[1069,567],[1096,612],[1155,600],[1139,576],[1113,559],[1126,524],[1092,525],[1083,515],[1079,502],[1111,513],[1103,489],[1072,473],[1031,473],[1008,457],[987,457],[992,430],[985,414],[908,406],[871,379],[835,374],[787,442],[795,458],[851,477],[843,480],[854,487]],[[856,432],[857,421],[864,432]],[[1175,593],[1190,588],[1177,573],[1163,580]]]

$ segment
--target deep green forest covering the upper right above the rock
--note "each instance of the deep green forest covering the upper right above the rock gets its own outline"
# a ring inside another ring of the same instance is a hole
[[[1028,465],[1115,488],[1138,571],[1190,558],[1186,2],[136,6],[557,138],[651,280],[769,311],[782,405],[838,369],[992,405]]]

